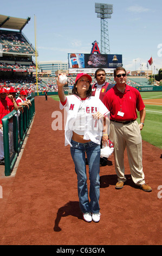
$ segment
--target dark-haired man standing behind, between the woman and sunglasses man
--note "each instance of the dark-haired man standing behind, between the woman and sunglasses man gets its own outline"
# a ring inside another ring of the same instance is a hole
[[[92,96],[98,97],[103,102],[103,97],[105,96],[106,92],[113,87],[113,84],[106,82],[106,72],[101,68],[95,71],[95,79],[96,83],[94,83],[92,86]],[[100,166],[106,166],[106,164],[107,158],[100,158]]]

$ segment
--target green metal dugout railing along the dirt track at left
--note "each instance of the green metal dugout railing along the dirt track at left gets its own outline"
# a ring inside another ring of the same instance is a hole
[[[31,105],[23,107],[22,111],[18,114],[13,110],[5,115],[2,119],[3,124],[3,144],[4,144],[4,165],[5,176],[11,175],[11,171],[15,166],[17,156],[22,148],[25,136],[30,127],[31,121],[35,115],[35,101],[34,98],[30,100]],[[11,138],[9,133],[11,131]],[[11,139],[13,139],[13,149],[11,153]]]

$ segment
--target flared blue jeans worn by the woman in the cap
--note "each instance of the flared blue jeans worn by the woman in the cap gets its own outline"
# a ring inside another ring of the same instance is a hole
[[[80,209],[85,214],[92,212],[96,214],[100,211],[100,145],[90,141],[79,143],[71,140],[70,152],[75,164],[77,174],[77,191],[79,196]],[[86,154],[89,165],[90,190],[88,199],[87,174],[86,174]]]

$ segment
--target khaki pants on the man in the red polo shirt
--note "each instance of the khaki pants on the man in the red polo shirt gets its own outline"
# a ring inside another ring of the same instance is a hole
[[[124,167],[124,151],[127,148],[132,180],[137,185],[145,184],[142,168],[142,138],[137,121],[120,124],[111,121],[109,138],[114,144],[115,171],[118,181],[126,181]]]

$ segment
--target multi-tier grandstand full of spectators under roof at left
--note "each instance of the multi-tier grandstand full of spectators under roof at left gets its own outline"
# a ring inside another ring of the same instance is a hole
[[[30,89],[34,86],[35,90],[33,73],[36,65],[32,57],[36,51],[22,32],[29,21],[30,17],[21,19],[0,15],[0,87]],[[38,56],[38,52],[36,54]]]

